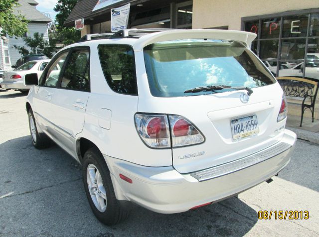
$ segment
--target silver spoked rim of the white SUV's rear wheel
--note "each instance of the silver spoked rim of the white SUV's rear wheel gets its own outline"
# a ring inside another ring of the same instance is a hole
[[[95,165],[90,164],[87,168],[86,177],[88,189],[95,207],[100,212],[104,212],[107,206],[107,198],[100,171]]]

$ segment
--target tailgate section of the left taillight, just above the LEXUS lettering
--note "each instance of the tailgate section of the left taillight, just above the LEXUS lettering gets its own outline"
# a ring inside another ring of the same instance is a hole
[[[194,145],[204,141],[204,136],[187,119],[176,115],[169,115],[172,146]]]

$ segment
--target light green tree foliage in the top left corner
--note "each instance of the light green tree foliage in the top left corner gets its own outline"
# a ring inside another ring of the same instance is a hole
[[[27,19],[21,14],[14,14],[13,8],[20,4],[17,0],[0,0],[1,36],[22,37],[27,31]]]

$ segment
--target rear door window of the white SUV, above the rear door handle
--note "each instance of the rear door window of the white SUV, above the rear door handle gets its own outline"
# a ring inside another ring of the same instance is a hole
[[[89,51],[74,50],[65,66],[61,88],[90,91]]]

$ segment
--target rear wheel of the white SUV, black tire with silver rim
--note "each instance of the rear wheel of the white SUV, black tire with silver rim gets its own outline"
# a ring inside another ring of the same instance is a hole
[[[85,152],[82,175],[90,207],[100,222],[112,226],[129,217],[131,210],[116,199],[109,168],[96,147]]]

